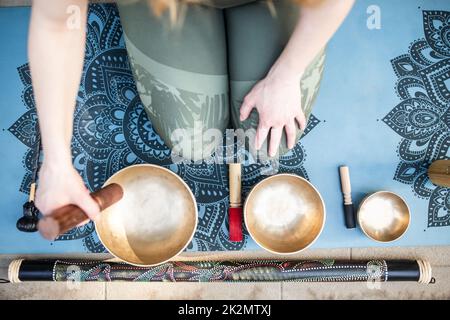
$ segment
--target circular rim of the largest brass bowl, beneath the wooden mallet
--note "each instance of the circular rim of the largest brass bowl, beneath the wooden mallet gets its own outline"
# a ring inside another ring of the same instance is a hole
[[[194,223],[194,227],[193,227],[193,231],[191,233],[191,236],[189,237],[189,240],[186,241],[186,244],[183,246],[183,248],[181,248],[180,251],[178,251],[176,254],[174,254],[172,257],[162,261],[162,262],[158,262],[158,263],[153,263],[153,264],[139,264],[139,263],[134,263],[134,262],[130,262],[127,261],[126,259],[123,259],[119,256],[117,256],[115,253],[112,252],[111,249],[108,248],[108,246],[103,242],[100,233],[97,232],[97,223],[94,221],[94,226],[95,226],[95,232],[97,233],[98,238],[100,239],[100,242],[103,244],[103,246],[108,250],[108,253],[113,255],[115,258],[119,259],[120,261],[123,261],[125,263],[128,263],[130,265],[136,266],[136,267],[154,267],[154,266],[159,266],[162,265],[170,260],[172,260],[173,258],[177,257],[180,253],[182,253],[184,251],[184,249],[186,249],[186,247],[189,245],[189,243],[191,243],[192,239],[194,238],[195,232],[197,231],[197,225],[198,225],[198,208],[197,208],[197,200],[195,199],[194,194],[192,193],[191,188],[189,188],[189,186],[187,185],[186,182],[184,182],[184,180],[177,175],[175,172],[173,172],[172,170],[169,170],[167,168],[164,168],[163,166],[159,166],[156,164],[151,164],[151,163],[140,163],[140,164],[133,164],[131,166],[125,167],[120,169],[119,171],[116,171],[114,174],[112,174],[103,184],[103,187],[107,186],[109,184],[109,182],[111,181],[111,179],[115,176],[118,175],[120,172],[125,171],[127,169],[130,168],[135,168],[135,167],[151,167],[151,168],[155,168],[155,169],[161,169],[171,175],[173,175],[176,179],[178,179],[186,188],[186,190],[188,191],[189,195],[191,196],[191,199],[193,201],[193,205],[194,205],[194,213],[195,213],[195,223]]]

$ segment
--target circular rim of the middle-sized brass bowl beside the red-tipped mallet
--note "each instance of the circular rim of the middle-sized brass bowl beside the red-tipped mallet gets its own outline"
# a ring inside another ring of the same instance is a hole
[[[322,207],[323,207],[323,221],[322,221],[322,225],[320,226],[320,230],[319,230],[319,232],[317,233],[317,235],[316,235],[316,236],[314,237],[314,239],[313,239],[308,245],[306,245],[304,248],[302,248],[302,249],[300,249],[300,250],[297,250],[297,251],[292,251],[292,252],[277,252],[277,251],[271,250],[271,249],[269,249],[269,248],[266,248],[266,247],[263,246],[261,243],[259,243],[258,240],[256,240],[256,239],[253,237],[252,231],[251,231],[250,228],[248,227],[248,223],[247,223],[247,215],[248,215],[248,214],[247,214],[246,208],[247,208],[248,199],[250,199],[251,194],[254,192],[254,190],[256,189],[256,187],[259,186],[259,185],[260,185],[261,183],[263,183],[264,181],[270,180],[270,179],[274,179],[274,178],[280,177],[280,176],[281,176],[281,177],[283,177],[283,176],[286,176],[286,177],[293,177],[293,178],[296,178],[296,179],[299,179],[299,180],[303,180],[304,182],[306,182],[306,184],[308,184],[310,187],[312,187],[313,190],[316,192],[316,194],[319,196],[320,202],[322,203]],[[247,197],[246,197],[246,199],[245,199],[243,211],[244,211],[244,222],[245,222],[245,226],[246,226],[246,228],[247,228],[248,233],[249,233],[250,236],[252,237],[253,241],[255,241],[256,244],[258,244],[258,245],[259,245],[261,248],[263,248],[264,250],[267,250],[267,251],[270,252],[270,253],[274,253],[274,254],[276,254],[276,255],[281,255],[281,256],[290,256],[290,255],[294,255],[294,254],[299,253],[299,252],[302,252],[302,251],[308,249],[310,246],[312,246],[312,245],[317,241],[317,239],[320,237],[320,235],[322,234],[323,228],[325,227],[325,222],[326,222],[326,220],[327,220],[327,210],[326,210],[325,202],[323,201],[322,195],[320,194],[319,190],[317,190],[317,188],[316,188],[311,182],[309,182],[308,180],[306,180],[305,178],[303,178],[303,177],[301,177],[301,176],[298,176],[298,175],[296,175],[296,174],[292,174],[292,173],[278,173],[278,174],[274,174],[274,175],[272,175],[272,176],[270,176],[270,177],[264,178],[263,180],[261,180],[261,181],[259,181],[257,184],[255,184],[255,185],[252,187],[252,189],[250,190],[250,192],[248,193],[248,195],[247,195]]]

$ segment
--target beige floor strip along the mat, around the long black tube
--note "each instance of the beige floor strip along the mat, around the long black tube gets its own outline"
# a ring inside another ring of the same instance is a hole
[[[36,256],[33,256],[36,257]],[[61,256],[60,256],[61,257]],[[69,256],[75,257],[75,256]],[[101,255],[98,258],[105,258]],[[204,253],[195,259],[210,258]],[[242,252],[214,253],[214,257],[242,258]],[[276,258],[265,252],[246,252],[246,258]],[[0,255],[0,278],[15,256]],[[193,259],[183,255],[180,259]],[[278,257],[279,258],[279,257]],[[382,283],[66,283],[0,284],[0,299],[450,299],[450,246],[417,248],[353,248],[306,250],[292,259],[415,259],[428,260],[435,284]]]

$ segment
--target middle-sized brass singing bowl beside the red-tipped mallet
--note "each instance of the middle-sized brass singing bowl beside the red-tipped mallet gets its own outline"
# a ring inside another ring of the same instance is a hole
[[[306,179],[278,174],[259,182],[244,206],[247,230],[261,247],[278,254],[310,246],[325,224],[325,204]]]

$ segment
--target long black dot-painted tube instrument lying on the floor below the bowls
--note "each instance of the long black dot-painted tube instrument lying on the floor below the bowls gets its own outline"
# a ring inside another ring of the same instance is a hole
[[[155,267],[138,267],[110,261],[14,260],[8,274],[11,282],[433,281],[431,267],[423,260],[170,261]]]

